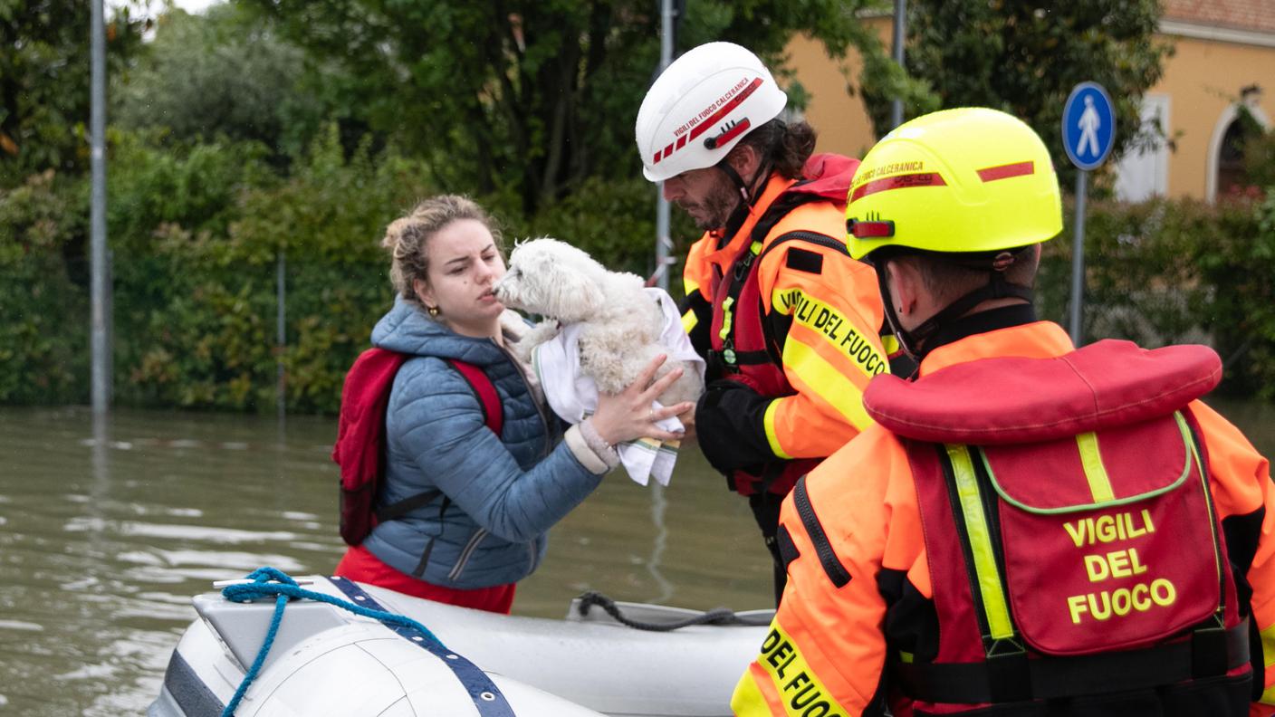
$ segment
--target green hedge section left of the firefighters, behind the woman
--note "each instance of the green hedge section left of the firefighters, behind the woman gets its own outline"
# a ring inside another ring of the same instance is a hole
[[[384,228],[439,189],[426,167],[393,151],[348,151],[335,128],[287,177],[266,158],[252,143],[111,135],[117,403],[273,411],[282,364],[289,411],[337,410],[346,369],[393,301]],[[638,177],[588,182],[529,218],[515,202],[479,202],[509,239],[569,239],[645,274],[654,199]],[[13,367],[0,378],[0,403],[88,399],[87,216],[83,177],[50,174],[0,190],[0,362]]]

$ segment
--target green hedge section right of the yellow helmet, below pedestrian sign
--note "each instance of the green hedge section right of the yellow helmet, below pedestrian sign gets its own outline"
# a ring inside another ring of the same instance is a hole
[[[1042,315],[1068,324],[1074,207],[1046,244]],[[1265,200],[1090,203],[1084,337],[1209,343],[1223,390],[1275,399],[1275,190]]]

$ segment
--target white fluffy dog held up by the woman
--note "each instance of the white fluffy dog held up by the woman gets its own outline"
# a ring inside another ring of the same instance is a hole
[[[676,361],[669,347],[660,343],[664,313],[636,274],[609,272],[570,244],[534,239],[514,248],[509,270],[495,292],[505,306],[547,319],[518,342],[515,351],[524,361],[562,327],[581,324],[580,371],[599,390],[623,390],[659,353],[669,356],[659,375],[678,366],[685,370],[659,397],[662,404],[695,401],[704,389],[700,367]]]

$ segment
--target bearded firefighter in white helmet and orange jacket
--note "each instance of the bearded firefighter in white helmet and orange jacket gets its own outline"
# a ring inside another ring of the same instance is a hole
[[[813,130],[750,51],[701,45],[660,74],[635,128],[644,175],[705,235],[686,260],[683,325],[709,362],[695,431],[748,496],[775,559],[779,503],[870,420],[862,393],[887,371],[872,269],[845,253],[858,162],[811,157]]]

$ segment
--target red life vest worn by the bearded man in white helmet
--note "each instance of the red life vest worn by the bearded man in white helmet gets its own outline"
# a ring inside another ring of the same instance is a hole
[[[720,269],[714,272],[713,323],[709,328],[710,375],[742,381],[766,398],[797,393],[784,375],[784,337],[775,336],[765,319],[757,269],[766,254],[788,241],[820,244],[849,255],[844,241],[813,231],[785,232],[769,242],[768,236],[797,207],[811,202],[844,205],[857,166],[858,159],[834,154],[813,156],[805,171],[807,176],[817,179],[799,181],[779,194],[769,207],[757,208],[762,211],[762,217],[754,225],[748,242],[724,273]],[[725,332],[722,330],[723,325],[728,327]],[[762,491],[787,495],[797,478],[813,469],[820,461],[822,458],[776,459],[766,466],[762,475],[734,471],[728,480],[743,495]]]

